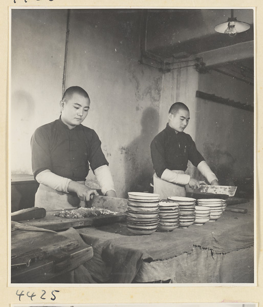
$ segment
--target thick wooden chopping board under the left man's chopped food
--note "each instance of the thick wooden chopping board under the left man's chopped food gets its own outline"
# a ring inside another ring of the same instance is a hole
[[[39,218],[37,220],[20,221],[20,222],[34,227],[59,231],[59,230],[69,229],[70,227],[79,228],[87,226],[93,226],[93,227],[103,226],[125,220],[124,213],[92,216],[85,218],[63,218],[63,217],[54,216],[54,214],[57,212],[61,212],[61,210],[48,211],[46,217]]]

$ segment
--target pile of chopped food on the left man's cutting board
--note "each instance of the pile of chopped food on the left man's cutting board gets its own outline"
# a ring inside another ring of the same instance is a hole
[[[64,218],[85,218],[90,216],[100,216],[100,215],[117,214],[117,213],[118,212],[100,207],[91,207],[91,208],[80,207],[78,209],[73,209],[73,210],[63,210],[61,212],[55,213],[54,215]]]

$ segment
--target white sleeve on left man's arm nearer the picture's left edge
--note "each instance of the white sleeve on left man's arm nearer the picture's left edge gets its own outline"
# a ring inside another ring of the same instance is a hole
[[[58,176],[51,170],[46,169],[37,174],[36,181],[59,192],[69,193],[68,187],[72,180]]]

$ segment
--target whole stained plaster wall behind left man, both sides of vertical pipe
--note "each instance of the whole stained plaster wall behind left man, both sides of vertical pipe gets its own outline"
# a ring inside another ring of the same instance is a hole
[[[25,10],[12,24],[11,171],[32,173],[30,138],[59,117],[67,10]],[[147,190],[158,133],[162,73],[138,63],[140,12],[71,10],[65,87],[90,95],[83,122],[96,130],[117,194]],[[97,187],[90,171],[89,184]]]

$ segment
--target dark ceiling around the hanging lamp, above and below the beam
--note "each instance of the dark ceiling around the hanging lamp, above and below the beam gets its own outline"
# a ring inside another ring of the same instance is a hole
[[[220,49],[254,39],[253,9],[234,9],[234,17],[250,25],[250,29],[230,37],[217,33],[214,27],[231,16],[230,9],[148,9],[145,10],[145,48],[163,60]],[[216,65],[226,74],[250,75],[253,82],[254,59],[248,58]]]

